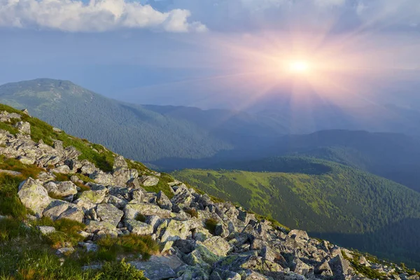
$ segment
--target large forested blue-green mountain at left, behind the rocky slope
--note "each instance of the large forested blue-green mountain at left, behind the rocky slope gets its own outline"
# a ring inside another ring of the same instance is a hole
[[[147,162],[209,158],[244,146],[244,138],[270,141],[283,130],[235,111],[125,104],[65,80],[1,85],[0,101],[27,108],[32,115],[66,132]]]

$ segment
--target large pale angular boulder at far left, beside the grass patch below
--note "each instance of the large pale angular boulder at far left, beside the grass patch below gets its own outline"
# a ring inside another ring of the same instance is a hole
[[[47,190],[31,178],[20,183],[18,196],[22,204],[34,211],[38,218],[42,217],[45,207],[51,202]]]

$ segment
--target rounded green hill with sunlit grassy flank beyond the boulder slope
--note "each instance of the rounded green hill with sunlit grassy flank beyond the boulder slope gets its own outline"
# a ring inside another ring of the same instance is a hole
[[[242,170],[186,169],[173,176],[290,228],[383,258],[420,264],[420,193],[359,169],[314,158],[242,162]],[[415,248],[413,250],[413,248]]]

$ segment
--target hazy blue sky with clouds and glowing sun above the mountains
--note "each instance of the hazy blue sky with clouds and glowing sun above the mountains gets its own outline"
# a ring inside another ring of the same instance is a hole
[[[290,92],[419,104],[418,0],[0,0],[0,38],[0,83],[58,78],[204,109]]]

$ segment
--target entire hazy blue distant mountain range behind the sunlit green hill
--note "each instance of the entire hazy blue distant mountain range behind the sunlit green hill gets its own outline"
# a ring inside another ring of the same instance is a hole
[[[416,136],[349,130],[290,135],[292,128],[286,110],[247,113],[127,104],[65,80],[36,79],[0,85],[0,102],[27,108],[32,115],[66,132],[104,144],[128,158],[142,160],[162,170],[240,169],[244,161],[274,155],[300,155],[357,167],[420,190],[417,172],[420,141]],[[312,112],[311,123],[321,129],[358,129],[372,127],[372,123],[377,122],[375,131],[394,131],[394,126],[395,131],[408,127],[419,130],[420,127],[415,122],[416,113],[409,115],[406,111],[404,118],[386,122],[390,118],[387,114],[375,111],[372,115],[372,111],[358,110],[354,119],[361,120],[365,116],[365,123],[360,127],[357,122],[351,123],[346,113],[340,116],[336,109],[333,111],[337,116],[328,122],[328,116],[332,116],[328,110]],[[305,119],[299,122],[301,130],[310,132],[312,126],[307,124],[305,128]],[[407,121],[398,125],[402,119]],[[412,130],[412,134],[416,134],[416,130]]]

